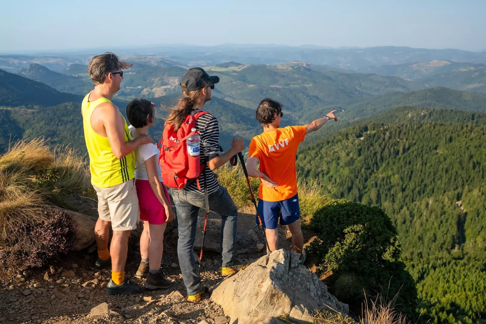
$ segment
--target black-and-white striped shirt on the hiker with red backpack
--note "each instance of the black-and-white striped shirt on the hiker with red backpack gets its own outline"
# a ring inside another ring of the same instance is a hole
[[[206,173],[206,179],[208,183],[204,181],[204,174],[201,172],[199,176],[199,184],[201,190],[197,188],[197,182],[195,180],[188,183],[185,189],[189,192],[204,195],[204,188],[207,185],[208,194],[216,192],[219,188],[219,182],[214,177],[214,173],[209,169],[207,162],[219,156],[219,124],[218,120],[211,114],[201,115],[196,120],[196,129],[200,132],[201,146],[200,155],[201,163],[206,164],[203,172]]]

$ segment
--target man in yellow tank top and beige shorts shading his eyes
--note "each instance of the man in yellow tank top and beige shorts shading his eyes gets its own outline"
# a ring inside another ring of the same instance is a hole
[[[111,261],[108,294],[137,294],[143,288],[125,277],[125,262],[130,231],[137,228],[139,200],[135,189],[135,149],[154,143],[148,135],[131,140],[128,126],[117,106],[111,103],[120,90],[123,72],[131,64],[121,62],[113,53],[91,58],[88,74],[94,90],[81,105],[91,184],[98,196],[99,218],[95,226],[98,259],[95,267],[105,268]],[[110,251],[109,230],[113,229]],[[111,252],[111,253],[110,253]]]

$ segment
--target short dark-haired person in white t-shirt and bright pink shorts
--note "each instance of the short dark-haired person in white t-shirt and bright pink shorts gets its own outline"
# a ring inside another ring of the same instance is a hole
[[[126,114],[132,138],[148,134],[154,126],[155,109],[146,99],[136,98],[126,107]],[[172,283],[165,279],[160,263],[162,261],[164,231],[166,222],[174,219],[169,193],[162,182],[159,150],[156,144],[140,145],[135,152],[135,186],[139,198],[140,220],[143,232],[140,236],[141,261],[137,275],[146,276],[143,284],[148,289],[168,288]]]

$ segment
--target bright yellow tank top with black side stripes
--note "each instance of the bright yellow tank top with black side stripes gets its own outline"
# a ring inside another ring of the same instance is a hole
[[[91,93],[91,92],[90,92]],[[91,184],[98,188],[115,186],[135,177],[135,151],[118,159],[112,152],[108,138],[98,135],[91,127],[91,114],[94,108],[101,103],[111,102],[106,98],[100,98],[88,102],[89,94],[83,99],[81,110],[83,111],[83,128],[85,131],[86,147],[89,155],[89,170],[91,171]],[[123,117],[123,116],[122,116]],[[130,132],[126,125],[124,131],[125,141],[130,141]]]

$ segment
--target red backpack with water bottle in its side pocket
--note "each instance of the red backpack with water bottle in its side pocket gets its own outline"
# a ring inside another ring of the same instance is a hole
[[[204,168],[201,164],[200,156],[193,157],[187,153],[186,140],[189,136],[199,131],[192,132],[196,127],[196,120],[199,116],[207,114],[203,110],[195,110],[191,115],[187,115],[182,125],[174,131],[174,127],[168,123],[164,127],[162,138],[158,142],[160,154],[158,161],[162,170],[162,180],[170,188],[182,189],[187,182],[196,179],[199,185],[199,175]]]

